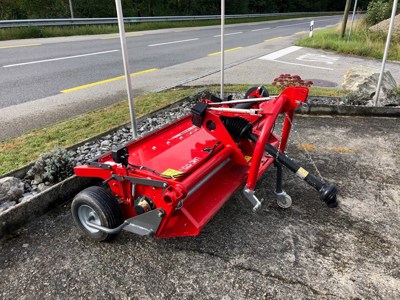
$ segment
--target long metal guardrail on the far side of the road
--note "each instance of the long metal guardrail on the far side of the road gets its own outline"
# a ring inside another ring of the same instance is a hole
[[[296,15],[323,15],[342,14],[343,12],[293,12],[293,13],[269,13],[269,14],[245,14],[226,15],[226,19],[262,18],[275,16],[296,16]],[[126,17],[125,23],[145,22],[172,22],[172,21],[197,21],[197,20],[218,20],[221,15],[204,16],[164,16],[164,17]],[[103,25],[118,24],[117,18],[71,18],[71,19],[31,19],[31,20],[4,20],[0,21],[0,28],[27,27],[27,26],[72,26],[72,25]]]

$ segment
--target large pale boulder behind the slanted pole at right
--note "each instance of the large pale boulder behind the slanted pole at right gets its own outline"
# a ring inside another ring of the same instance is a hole
[[[343,88],[350,91],[349,104],[373,105],[380,70],[366,66],[357,66],[349,69],[343,82]],[[396,92],[397,83],[389,71],[383,73],[379,105],[400,105],[400,96]]]

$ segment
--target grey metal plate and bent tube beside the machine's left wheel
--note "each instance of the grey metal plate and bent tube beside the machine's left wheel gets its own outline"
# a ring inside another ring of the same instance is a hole
[[[147,213],[137,215],[136,217],[127,219],[124,223],[116,228],[107,228],[104,226],[100,226],[90,222],[89,220],[86,221],[86,224],[89,227],[95,228],[108,234],[117,234],[122,229],[124,229],[141,236],[153,235],[157,232],[164,215],[164,211],[161,208],[158,208],[151,210]]]

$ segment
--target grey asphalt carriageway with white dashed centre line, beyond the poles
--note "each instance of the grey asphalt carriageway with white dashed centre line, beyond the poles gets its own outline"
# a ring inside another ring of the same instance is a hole
[[[307,31],[311,19],[317,29],[338,23],[340,16],[230,25],[225,30],[225,49]],[[219,34],[218,26],[128,33],[131,72],[163,69],[215,54],[220,51]],[[1,42],[0,108],[121,75],[116,35]]]

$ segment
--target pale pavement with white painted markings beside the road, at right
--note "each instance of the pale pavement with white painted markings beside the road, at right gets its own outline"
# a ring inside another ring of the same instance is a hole
[[[355,66],[369,66],[380,70],[382,61],[342,55],[332,51],[293,46],[298,36],[285,38],[285,43],[275,40],[258,45],[265,55],[234,66],[225,72],[227,84],[272,83],[280,74],[297,74],[302,79],[312,80],[314,86],[342,88],[344,75]],[[250,49],[249,49],[250,50]],[[260,51],[261,52],[261,51]],[[256,53],[260,53],[256,52]],[[235,55],[236,53],[232,53]],[[390,71],[400,84],[400,62],[387,62]],[[219,83],[219,74],[192,81],[190,85]]]

